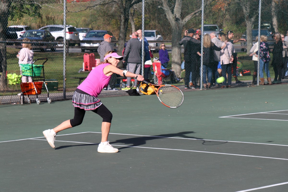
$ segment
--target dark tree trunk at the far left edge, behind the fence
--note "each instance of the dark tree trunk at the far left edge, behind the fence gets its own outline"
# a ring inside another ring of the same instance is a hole
[[[11,1],[0,1],[0,41],[6,41],[6,30],[8,25],[8,16],[9,16],[9,8],[11,5]],[[6,71],[7,71],[7,59],[6,59],[6,43],[0,43],[0,51],[3,56],[2,69],[3,75],[0,78],[0,90],[7,89],[7,79],[6,79]]]

